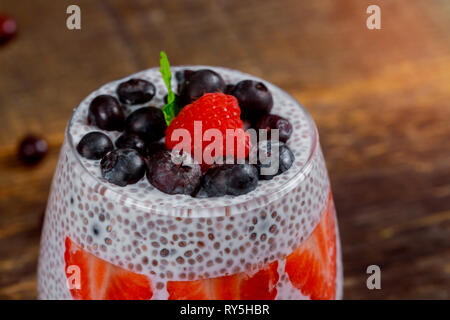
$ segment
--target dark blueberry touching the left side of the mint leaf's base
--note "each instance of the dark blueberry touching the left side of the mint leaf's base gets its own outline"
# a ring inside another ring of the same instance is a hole
[[[125,131],[140,136],[146,143],[164,137],[166,120],[159,108],[144,107],[131,113],[125,121]]]

